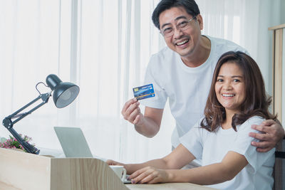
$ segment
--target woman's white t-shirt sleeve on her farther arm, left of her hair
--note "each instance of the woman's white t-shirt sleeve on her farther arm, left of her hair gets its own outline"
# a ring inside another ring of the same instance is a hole
[[[203,154],[203,136],[207,130],[200,127],[199,120],[186,134],[180,137],[180,143],[191,152],[196,159],[202,159]]]

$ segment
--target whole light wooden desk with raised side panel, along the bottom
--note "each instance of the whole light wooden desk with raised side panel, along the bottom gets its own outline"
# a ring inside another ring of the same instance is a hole
[[[190,183],[123,184],[100,159],[43,157],[3,148],[0,169],[0,189],[5,190],[210,189]]]

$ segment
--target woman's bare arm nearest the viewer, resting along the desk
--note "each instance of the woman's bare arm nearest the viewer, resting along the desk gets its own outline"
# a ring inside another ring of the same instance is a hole
[[[191,182],[218,184],[234,178],[247,166],[247,159],[237,152],[228,152],[222,162],[194,169],[155,169],[146,167],[130,175],[132,183]]]

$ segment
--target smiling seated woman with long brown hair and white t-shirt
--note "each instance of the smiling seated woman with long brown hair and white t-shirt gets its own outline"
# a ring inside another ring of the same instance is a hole
[[[206,93],[206,92],[205,92]],[[275,119],[255,61],[242,52],[219,58],[202,118],[162,159],[123,165],[132,183],[191,182],[217,189],[272,189],[274,151],[251,146],[251,125]],[[181,169],[193,159],[202,167]]]

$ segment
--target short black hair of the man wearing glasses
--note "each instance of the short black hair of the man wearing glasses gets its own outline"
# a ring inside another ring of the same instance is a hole
[[[187,14],[192,16],[200,14],[199,7],[195,0],[162,0],[157,4],[155,11],[152,13],[152,22],[155,24],[155,27],[160,29],[160,14],[172,7],[183,7]]]

